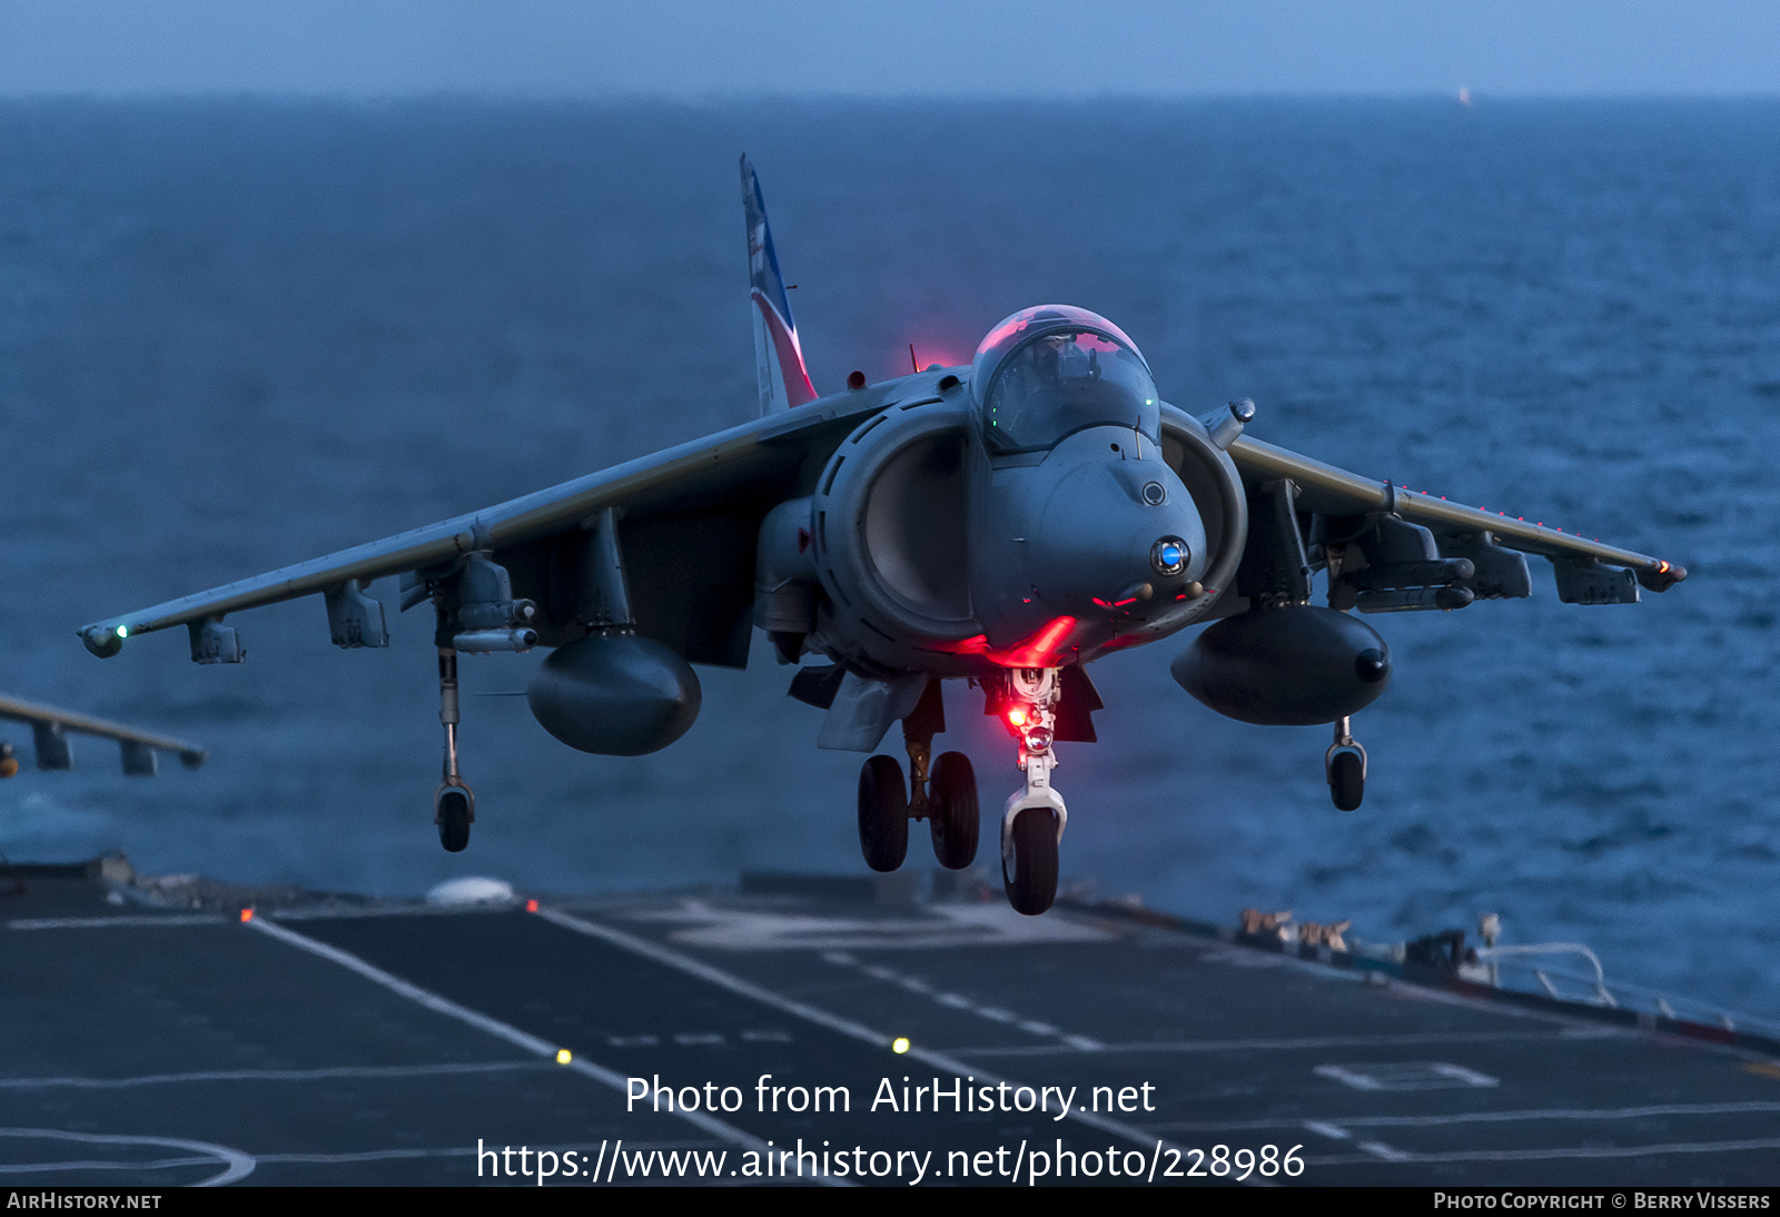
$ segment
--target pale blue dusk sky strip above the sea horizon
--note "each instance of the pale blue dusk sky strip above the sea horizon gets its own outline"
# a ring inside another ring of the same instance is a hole
[[[1780,94],[1762,0],[0,0],[0,94]]]

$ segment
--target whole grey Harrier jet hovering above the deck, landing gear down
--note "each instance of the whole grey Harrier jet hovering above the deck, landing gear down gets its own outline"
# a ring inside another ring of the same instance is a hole
[[[692,724],[692,664],[744,667],[751,628],[790,696],[826,710],[819,747],[894,756],[860,772],[860,843],[894,870],[910,820],[945,866],[977,850],[977,781],[945,729],[940,681],[981,690],[1024,783],[1000,815],[1002,879],[1022,913],[1056,897],[1066,808],[1054,744],[1093,740],[1088,665],[1209,626],[1173,662],[1189,694],[1244,722],[1333,724],[1333,801],[1360,804],[1349,719],[1390,676],[1358,616],[1527,596],[1525,553],[1570,603],[1632,603],[1686,571],[1556,528],[1460,507],[1244,436],[1250,400],[1194,416],[1157,395],[1118,326],[1024,308],[970,367],[929,367],[821,397],[742,158],[760,418],[484,511],[85,626],[94,655],[185,626],[199,664],[244,657],[224,617],[320,594],[342,648],[388,646],[372,580],[431,605],[445,772],[434,822],[470,836],[457,769],[457,657],[552,648],[532,713],[587,753],[635,756]],[[1326,571],[1328,605],[1312,605]],[[319,625],[319,623],[317,623]],[[826,660],[826,662],[824,662]]]

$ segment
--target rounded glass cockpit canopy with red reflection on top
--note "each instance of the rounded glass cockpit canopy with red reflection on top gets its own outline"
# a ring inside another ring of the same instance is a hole
[[[970,363],[970,393],[991,454],[1050,448],[1082,427],[1159,438],[1161,409],[1136,343],[1070,304],[1025,308],[991,329]]]

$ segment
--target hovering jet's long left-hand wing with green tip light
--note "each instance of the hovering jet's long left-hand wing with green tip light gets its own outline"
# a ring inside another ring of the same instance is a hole
[[[564,592],[555,584],[564,580],[555,573],[564,557],[582,560],[573,546],[586,548],[612,509],[621,521],[637,630],[691,662],[740,667],[748,662],[762,516],[790,493],[806,459],[833,450],[858,418],[942,400],[940,377],[911,375],[822,399],[484,511],[107,617],[84,626],[80,637],[105,657],[116,655],[125,639],[183,625],[192,632],[194,660],[237,662],[242,651],[233,633],[206,633],[208,623],[324,594],[335,642],[386,646],[381,605],[365,601],[360,589],[408,575],[406,608],[427,598],[427,571],[449,573],[466,555],[482,553],[511,573],[514,596],[538,603],[539,642],[557,646],[584,630],[573,628],[573,605],[561,603]]]

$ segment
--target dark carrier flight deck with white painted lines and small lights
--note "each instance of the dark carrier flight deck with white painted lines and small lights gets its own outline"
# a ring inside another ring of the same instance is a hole
[[[1029,918],[945,881],[922,899],[908,874],[746,875],[429,906],[144,879],[121,858],[11,866],[0,1171],[14,1187],[1780,1176],[1780,1044],[1759,1036],[1130,904]]]

